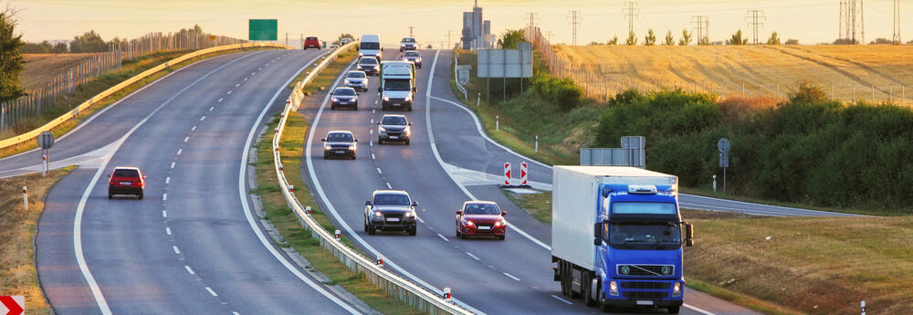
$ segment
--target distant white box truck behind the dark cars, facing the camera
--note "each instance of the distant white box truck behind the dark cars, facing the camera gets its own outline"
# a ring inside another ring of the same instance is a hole
[[[381,63],[381,109],[412,111],[415,102],[415,64],[409,61],[383,61]]]

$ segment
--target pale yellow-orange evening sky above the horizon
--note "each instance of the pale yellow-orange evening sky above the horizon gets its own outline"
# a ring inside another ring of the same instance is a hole
[[[491,20],[492,33],[517,29],[534,23],[543,32],[551,31],[551,42],[571,43],[571,11],[580,12],[577,44],[605,42],[628,33],[624,18],[625,0],[491,0],[479,1],[484,19]],[[892,0],[864,0],[866,41],[893,36]],[[913,1],[901,0],[901,37],[913,39]],[[799,39],[802,44],[832,42],[838,34],[840,0],[650,0],[637,4],[634,30],[643,40],[647,29],[654,29],[661,41],[666,31],[675,37],[687,27],[693,30],[692,16],[707,16],[711,41],[724,40],[738,29],[750,34],[748,10],[763,10],[766,16],[759,28],[765,40],[772,31],[780,37]],[[409,36],[415,26],[420,43],[440,47],[456,43],[462,28],[462,12],[470,11],[472,1],[453,0],[348,0],[348,1],[238,1],[238,0],[0,0],[0,5],[16,8],[18,31],[26,41],[71,39],[90,29],[104,39],[139,37],[152,31],[177,31],[198,24],[206,32],[247,38],[250,18],[278,19],[278,42],[285,34],[297,42],[302,35],[333,39],[341,33],[380,34],[383,42],[396,43]],[[907,35],[906,37],[904,35]]]

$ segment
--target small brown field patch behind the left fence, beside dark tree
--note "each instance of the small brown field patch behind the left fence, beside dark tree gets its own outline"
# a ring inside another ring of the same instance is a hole
[[[23,54],[26,59],[26,68],[19,74],[22,86],[27,89],[44,87],[51,79],[67,73],[70,68],[79,63],[99,55],[98,53],[85,54]]]

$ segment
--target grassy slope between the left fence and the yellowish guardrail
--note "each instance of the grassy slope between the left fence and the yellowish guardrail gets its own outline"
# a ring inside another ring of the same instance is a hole
[[[245,49],[245,50],[259,50],[259,48],[249,48],[249,49]],[[23,119],[19,123],[16,123],[16,125],[14,125],[12,129],[0,132],[0,139],[8,139],[11,137],[15,137],[17,134],[22,134],[22,133],[26,133],[28,131],[33,131],[33,130],[37,129],[38,127],[45,125],[47,122],[57,119],[58,117],[60,117],[60,115],[63,115],[64,113],[68,112],[69,110],[76,108],[82,102],[89,100],[89,99],[95,97],[96,95],[99,95],[99,93],[103,92],[104,90],[110,89],[110,87],[118,85],[126,79],[130,79],[130,78],[142,73],[142,71],[148,70],[150,68],[154,68],[160,64],[163,64],[166,61],[172,60],[173,58],[181,57],[182,55],[187,54],[189,52],[191,52],[191,51],[190,50],[178,50],[178,51],[158,52],[158,53],[144,55],[139,58],[124,60],[123,64],[121,65],[121,69],[108,73],[108,74],[101,75],[100,77],[98,77],[96,79],[93,79],[89,82],[76,86],[76,88],[73,89],[72,94],[67,95],[66,98],[64,98],[63,96],[58,97],[58,100],[51,107],[49,107],[47,110],[42,112],[40,116],[34,117],[34,118]],[[104,100],[100,100],[99,102],[92,104],[92,106],[90,106],[88,109],[83,110],[79,114],[79,117],[74,117],[68,121],[65,121],[65,122],[59,124],[57,127],[54,127],[54,129],[52,129],[51,132],[54,133],[55,137],[60,137],[61,135],[72,130],[73,128],[76,128],[76,126],[79,125],[79,122],[91,117],[91,115],[93,113],[95,113],[96,111],[101,110],[118,100],[121,100],[122,98],[126,97],[127,95],[130,95],[130,93],[132,93],[133,91],[135,91],[137,89],[141,89],[142,87],[146,86],[149,83],[152,83],[156,79],[160,79],[160,78],[168,75],[169,73],[172,73],[179,68],[184,68],[196,61],[199,61],[199,60],[202,60],[205,58],[213,58],[215,56],[233,54],[236,52],[237,52],[236,50],[233,50],[233,51],[215,53],[215,54],[208,55],[205,57],[192,58],[189,60],[185,60],[182,63],[172,65],[171,67],[169,67],[163,71],[159,71],[158,73],[150,76],[149,78],[142,79],[142,80],[136,82],[135,84],[131,85],[130,87],[121,89],[120,91],[111,94],[109,97],[105,98]],[[12,145],[12,146],[8,146],[3,149],[0,149],[0,157],[10,156],[10,155],[14,155],[14,154],[17,154],[20,152],[26,152],[26,151],[29,151],[29,150],[32,150],[35,148],[37,148],[37,142],[34,142],[34,141],[22,142],[22,143],[19,143],[16,145]]]

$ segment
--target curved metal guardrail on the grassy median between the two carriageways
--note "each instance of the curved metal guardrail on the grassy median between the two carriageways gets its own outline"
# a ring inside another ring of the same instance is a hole
[[[281,156],[279,154],[279,138],[281,138],[282,132],[285,131],[285,124],[289,117],[289,113],[291,110],[298,110],[301,100],[304,99],[304,93],[301,91],[301,88],[313,80],[317,74],[320,73],[320,70],[326,68],[341,51],[346,51],[352,48],[352,45],[357,44],[358,42],[354,41],[332,52],[327,58],[320,62],[320,64],[313,68],[307,77],[295,84],[295,89],[292,92],[292,95],[289,96],[285,109],[282,110],[282,115],[279,119],[278,127],[276,128],[276,135],[273,137],[272,143],[274,167],[276,168],[276,175],[282,194],[285,195],[286,202],[292,210],[294,210],[295,215],[298,216],[301,226],[310,230],[311,236],[320,240],[320,247],[326,248],[333,256],[338,257],[343,265],[356,274],[363,273],[365,278],[371,281],[374,286],[383,289],[394,298],[400,299],[409,306],[422,310],[427,314],[472,314],[470,311],[456,305],[456,303],[444,299],[436,293],[420,287],[391,271],[383,269],[383,267],[376,265],[376,262],[373,259],[364,257],[361,253],[356,252],[351,247],[342,244],[339,239],[331,235],[330,232],[324,230],[316,220],[310,217],[295,194],[289,191],[289,183],[281,169]]]

